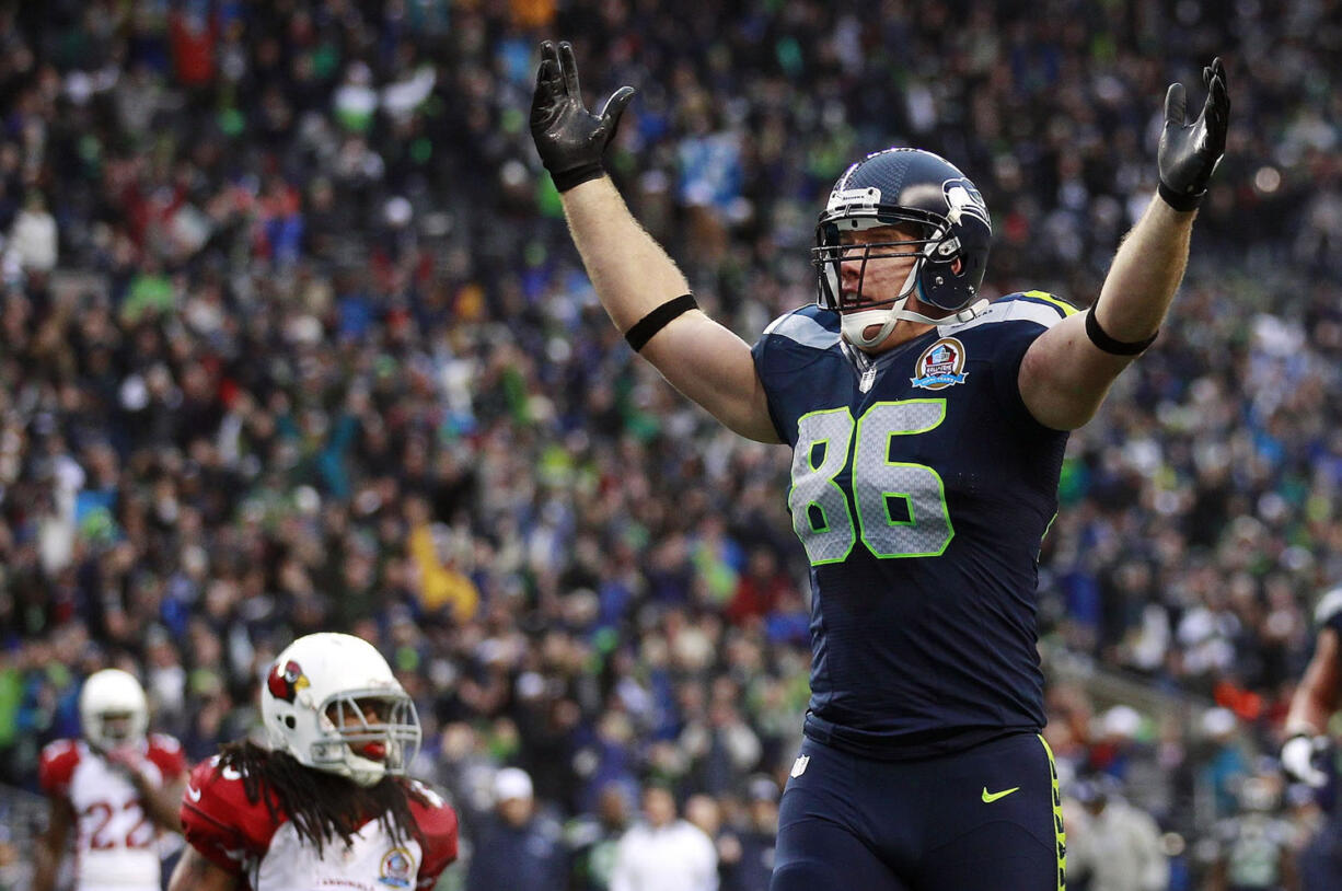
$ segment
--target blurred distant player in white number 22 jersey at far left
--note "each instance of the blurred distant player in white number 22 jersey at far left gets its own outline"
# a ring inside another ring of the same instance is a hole
[[[181,829],[187,761],[176,739],[148,730],[149,703],[133,675],[89,675],[79,690],[81,738],[52,742],[38,765],[51,812],[35,851],[34,891],[56,886],[71,831],[76,891],[158,891],[158,839]]]

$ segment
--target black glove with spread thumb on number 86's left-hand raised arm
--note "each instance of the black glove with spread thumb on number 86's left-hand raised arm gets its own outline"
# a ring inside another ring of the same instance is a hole
[[[601,154],[615,138],[624,106],[632,98],[633,87],[620,87],[605,101],[601,114],[592,114],[582,105],[573,46],[568,40],[558,48],[549,40],[541,44],[541,67],[531,97],[531,138],[554,188],[568,192],[605,173]]]

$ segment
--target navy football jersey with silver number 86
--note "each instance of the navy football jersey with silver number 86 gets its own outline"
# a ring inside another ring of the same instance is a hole
[[[1072,311],[1013,294],[872,358],[807,306],[754,345],[811,561],[807,735],[918,758],[1043,727],[1037,560],[1067,433],[1017,374]]]

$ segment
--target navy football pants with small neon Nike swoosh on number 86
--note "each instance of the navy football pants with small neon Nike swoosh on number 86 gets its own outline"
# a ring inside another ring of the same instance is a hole
[[[1043,737],[919,761],[872,761],[805,739],[792,774],[770,891],[1064,887],[1057,772]]]

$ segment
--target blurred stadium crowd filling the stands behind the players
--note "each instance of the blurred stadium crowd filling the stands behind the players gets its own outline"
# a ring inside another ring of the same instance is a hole
[[[280,647],[346,629],[419,702],[417,773],[468,840],[519,766],[527,825],[601,888],[592,840],[656,781],[719,824],[725,888],[764,887],[741,840],[768,836],[750,802],[786,778],[809,660],[789,455],[600,311],[525,127],[538,40],[573,40],[593,101],[637,86],[613,174],[750,342],[813,299],[829,184],[892,144],[978,182],[993,294],[1091,302],[1154,191],[1165,85],[1221,54],[1193,266],[1072,436],[1045,539],[1048,737],[1078,798],[1178,833],[1170,887],[1245,778],[1292,832],[1318,819],[1263,755],[1342,580],[1342,4],[0,11],[3,782],[78,734],[95,668],[203,758],[251,731]],[[1114,709],[1106,678],[1150,699]]]

